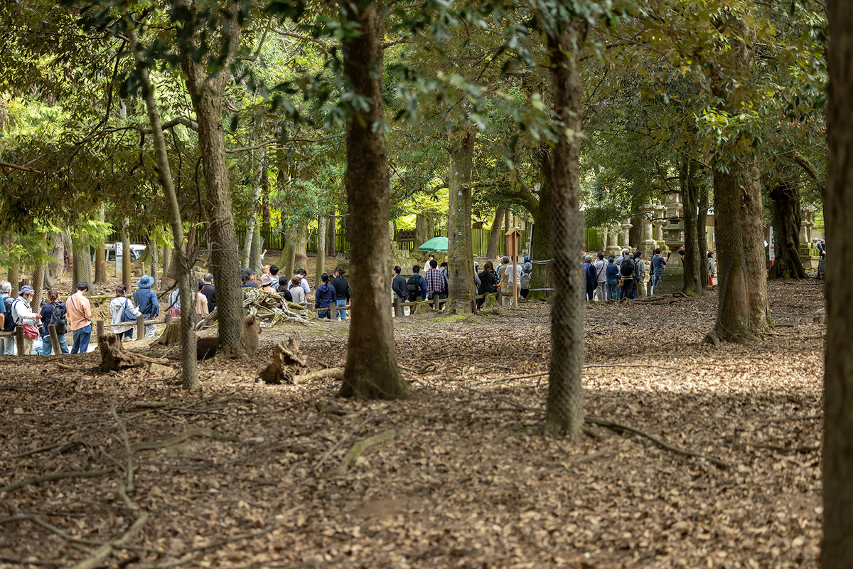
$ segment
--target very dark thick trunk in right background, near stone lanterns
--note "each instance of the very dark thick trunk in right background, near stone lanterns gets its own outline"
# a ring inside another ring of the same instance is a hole
[[[805,278],[803,261],[799,256],[799,200],[799,187],[791,181],[780,182],[770,189],[770,217],[773,220],[776,257],[770,267],[771,279]]]

